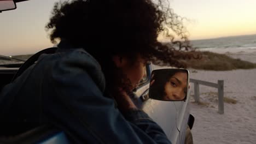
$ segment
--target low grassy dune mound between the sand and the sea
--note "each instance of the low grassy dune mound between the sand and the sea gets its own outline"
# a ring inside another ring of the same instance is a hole
[[[256,68],[256,63],[242,61],[241,59],[231,58],[224,54],[209,51],[203,51],[201,59],[190,59],[185,63],[187,63],[188,68],[199,70],[220,71]]]

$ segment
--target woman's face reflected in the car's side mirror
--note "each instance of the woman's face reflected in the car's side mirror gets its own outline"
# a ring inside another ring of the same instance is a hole
[[[187,73],[177,72],[165,83],[166,100],[183,100],[187,94]]]

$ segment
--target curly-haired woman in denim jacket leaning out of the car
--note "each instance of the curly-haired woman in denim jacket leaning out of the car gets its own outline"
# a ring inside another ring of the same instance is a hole
[[[46,29],[54,44],[60,40],[59,49],[3,89],[2,133],[51,124],[74,143],[170,143],[127,95],[148,62],[183,67],[179,60],[191,56],[180,51],[190,48],[182,23],[162,6],[150,0],[56,3]],[[161,44],[166,28],[184,42],[171,37]]]

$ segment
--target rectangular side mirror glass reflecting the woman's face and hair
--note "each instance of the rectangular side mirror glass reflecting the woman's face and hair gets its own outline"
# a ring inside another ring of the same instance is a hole
[[[164,101],[182,101],[187,98],[189,71],[187,69],[153,70],[149,98]]]

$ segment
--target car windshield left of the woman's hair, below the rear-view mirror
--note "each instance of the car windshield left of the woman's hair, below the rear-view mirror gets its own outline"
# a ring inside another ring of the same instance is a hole
[[[59,0],[16,3],[17,9],[0,13],[0,64],[24,63],[34,53],[53,47],[44,27]]]

